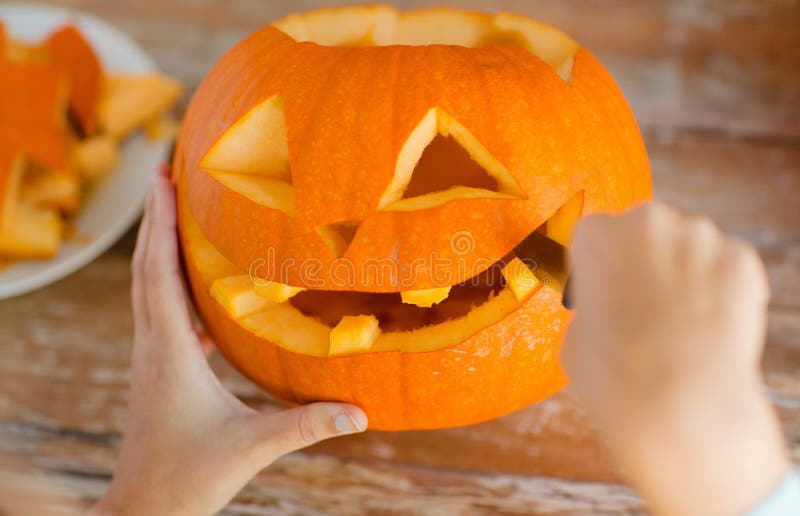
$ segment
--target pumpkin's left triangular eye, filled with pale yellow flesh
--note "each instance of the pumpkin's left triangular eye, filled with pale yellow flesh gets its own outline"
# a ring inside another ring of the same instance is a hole
[[[256,105],[214,143],[200,167],[249,199],[294,214],[294,187],[283,100]]]

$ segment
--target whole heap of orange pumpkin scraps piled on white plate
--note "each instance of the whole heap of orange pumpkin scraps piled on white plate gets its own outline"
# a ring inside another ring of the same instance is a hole
[[[174,136],[166,113],[182,87],[158,74],[105,73],[72,25],[29,44],[12,39],[0,23],[0,93],[5,263],[58,251],[83,189],[114,169],[118,148],[133,131]]]

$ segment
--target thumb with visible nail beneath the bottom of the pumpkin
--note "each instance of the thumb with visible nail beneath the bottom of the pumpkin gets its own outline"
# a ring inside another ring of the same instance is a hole
[[[312,403],[258,418],[258,434],[267,457],[305,448],[338,435],[363,432],[367,415],[346,403]]]

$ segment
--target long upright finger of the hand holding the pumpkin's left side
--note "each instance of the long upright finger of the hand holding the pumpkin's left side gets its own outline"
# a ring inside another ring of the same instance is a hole
[[[175,190],[163,176],[152,190],[150,231],[144,276],[151,326],[185,334],[193,331],[178,259]],[[179,339],[170,339],[179,340]]]

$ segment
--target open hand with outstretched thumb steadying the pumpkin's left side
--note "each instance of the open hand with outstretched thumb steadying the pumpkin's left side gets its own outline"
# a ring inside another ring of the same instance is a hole
[[[133,259],[130,405],[119,465],[96,514],[212,514],[278,457],[367,427],[352,405],[260,413],[222,386],[187,308],[175,217],[175,192],[162,175]]]

